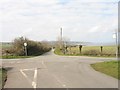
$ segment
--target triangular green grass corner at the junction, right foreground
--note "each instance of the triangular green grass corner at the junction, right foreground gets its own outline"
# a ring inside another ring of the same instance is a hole
[[[104,74],[110,75],[114,78],[120,79],[120,72],[118,73],[118,70],[120,70],[120,67],[118,67],[118,61],[95,63],[95,64],[91,64],[91,66],[96,71],[99,71]]]

